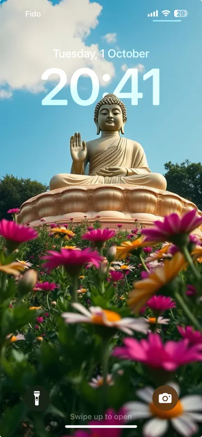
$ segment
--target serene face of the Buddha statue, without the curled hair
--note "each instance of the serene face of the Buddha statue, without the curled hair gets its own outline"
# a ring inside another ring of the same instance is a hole
[[[123,113],[119,105],[102,105],[98,112],[98,125],[101,131],[120,131]]]

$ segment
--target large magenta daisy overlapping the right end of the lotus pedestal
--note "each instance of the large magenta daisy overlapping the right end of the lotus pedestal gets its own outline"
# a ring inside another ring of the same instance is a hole
[[[163,221],[155,221],[152,229],[143,229],[142,235],[145,241],[160,243],[171,241],[182,245],[188,242],[188,235],[202,224],[202,217],[198,216],[197,210],[192,209],[180,219],[178,214],[170,214]]]

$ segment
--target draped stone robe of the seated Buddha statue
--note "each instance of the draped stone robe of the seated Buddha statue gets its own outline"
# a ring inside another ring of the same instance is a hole
[[[97,154],[88,151],[80,175],[76,174],[72,164],[71,174],[61,173],[53,176],[50,180],[50,190],[72,185],[94,184],[143,185],[166,190],[167,184],[164,176],[151,173],[146,155],[140,144],[127,140],[124,137],[112,138],[110,146],[109,138],[106,143],[106,149]],[[90,162],[89,175],[85,175],[85,168],[88,162]],[[109,177],[97,175],[100,169],[106,167],[123,167],[128,172],[127,176]]]

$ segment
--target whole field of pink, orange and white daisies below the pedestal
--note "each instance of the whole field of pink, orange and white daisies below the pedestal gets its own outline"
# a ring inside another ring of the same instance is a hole
[[[32,229],[18,212],[0,221],[0,436],[201,437],[202,218]],[[24,401],[35,386],[43,411]]]

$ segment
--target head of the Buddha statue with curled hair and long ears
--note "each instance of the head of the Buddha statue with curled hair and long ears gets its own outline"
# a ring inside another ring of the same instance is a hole
[[[121,131],[121,133],[124,133],[126,121],[126,107],[115,94],[107,94],[97,103],[94,112],[97,135],[100,131]]]

